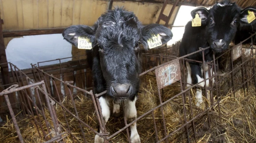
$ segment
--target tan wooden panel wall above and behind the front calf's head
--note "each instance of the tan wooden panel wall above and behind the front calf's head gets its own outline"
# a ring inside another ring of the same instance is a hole
[[[155,23],[162,5],[149,2],[113,2],[113,8],[124,6],[133,11],[143,24]],[[103,0],[0,0],[0,15],[4,21],[4,31],[66,28],[76,24],[92,26],[108,6],[109,1]],[[166,10],[170,11],[171,7],[172,5],[167,5]],[[173,23],[175,12],[169,24]],[[12,38],[4,39],[6,46]]]

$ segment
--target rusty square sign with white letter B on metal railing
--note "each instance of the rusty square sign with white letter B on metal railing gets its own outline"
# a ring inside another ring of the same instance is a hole
[[[167,87],[168,85],[181,80],[179,60],[157,68],[155,70],[155,75],[157,78],[157,87],[159,89]]]

